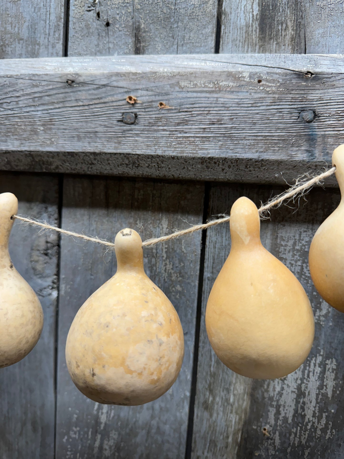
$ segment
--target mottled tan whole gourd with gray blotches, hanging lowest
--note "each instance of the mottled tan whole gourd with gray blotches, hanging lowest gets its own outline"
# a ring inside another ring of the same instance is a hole
[[[183,329],[164,293],[144,272],[133,229],[115,239],[117,272],[83,304],[67,336],[72,381],[99,403],[141,405],[164,394],[184,356]]]

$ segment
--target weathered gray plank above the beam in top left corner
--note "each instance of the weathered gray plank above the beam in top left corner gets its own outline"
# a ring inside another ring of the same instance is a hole
[[[3,1],[0,59],[63,56],[64,0]]]

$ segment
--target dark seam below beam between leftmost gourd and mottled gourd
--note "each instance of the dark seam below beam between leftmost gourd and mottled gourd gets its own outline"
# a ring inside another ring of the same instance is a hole
[[[58,183],[58,225],[62,225],[62,207],[63,207],[63,179],[64,174],[59,174]],[[61,234],[58,239],[58,255],[57,255],[57,298],[56,298],[56,312],[55,312],[55,349],[54,349],[54,399],[55,399],[55,413],[54,413],[54,459],[56,459],[56,440],[57,440],[57,379],[58,379],[58,341],[59,341],[59,302],[60,302],[60,277],[61,277]]]

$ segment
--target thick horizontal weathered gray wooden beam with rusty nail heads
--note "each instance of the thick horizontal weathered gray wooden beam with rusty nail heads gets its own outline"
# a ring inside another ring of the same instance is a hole
[[[337,55],[3,60],[0,169],[284,183],[344,142],[343,77]]]

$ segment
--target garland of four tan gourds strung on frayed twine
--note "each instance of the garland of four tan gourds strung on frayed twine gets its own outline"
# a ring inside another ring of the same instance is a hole
[[[257,209],[246,197],[230,217],[195,225],[142,243],[123,229],[114,244],[18,217],[17,198],[0,195],[0,368],[24,358],[37,343],[43,312],[8,253],[13,219],[115,248],[117,273],[83,304],[67,337],[67,368],[73,382],[99,403],[139,405],[160,397],[174,383],[184,353],[178,314],[144,273],[142,246],[230,222],[232,248],[207,302],[205,325],[216,355],[250,378],[272,379],[297,369],[314,338],[309,299],[289,269],[260,240],[260,216],[302,194],[334,171],[342,193],[338,208],[311,242],[311,278],[320,295],[344,312],[344,145],[333,152],[333,169],[297,185]],[[256,269],[257,263],[260,269]]]

